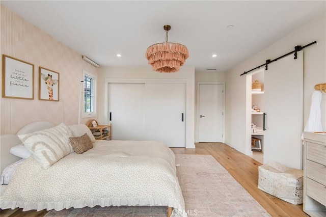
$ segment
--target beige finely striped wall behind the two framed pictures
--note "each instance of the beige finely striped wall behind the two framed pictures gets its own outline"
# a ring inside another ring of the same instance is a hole
[[[34,100],[1,98],[1,134],[34,121],[76,124],[82,71],[97,68],[82,56],[1,5],[1,53],[34,64]],[[39,66],[60,73],[60,101],[38,100]],[[1,83],[2,84],[2,83]],[[81,119],[81,123],[87,119]]]

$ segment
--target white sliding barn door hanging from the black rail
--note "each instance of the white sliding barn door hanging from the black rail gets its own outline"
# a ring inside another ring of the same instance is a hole
[[[303,51],[268,65],[264,85],[264,164],[302,169]]]

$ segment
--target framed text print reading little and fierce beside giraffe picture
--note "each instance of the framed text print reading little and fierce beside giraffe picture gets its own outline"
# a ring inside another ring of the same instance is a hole
[[[2,97],[34,99],[34,65],[2,56]]]

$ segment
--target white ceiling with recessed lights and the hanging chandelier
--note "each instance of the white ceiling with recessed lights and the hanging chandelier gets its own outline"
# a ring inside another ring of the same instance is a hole
[[[165,42],[187,46],[184,66],[226,72],[303,24],[325,1],[1,1],[53,38],[101,66],[147,66]],[[233,25],[233,29],[227,26]],[[116,55],[120,53],[122,57]],[[216,54],[217,57],[212,58]]]

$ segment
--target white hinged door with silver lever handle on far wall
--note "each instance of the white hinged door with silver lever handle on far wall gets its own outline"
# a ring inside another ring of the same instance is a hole
[[[223,84],[199,85],[199,142],[223,142]]]

